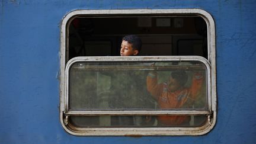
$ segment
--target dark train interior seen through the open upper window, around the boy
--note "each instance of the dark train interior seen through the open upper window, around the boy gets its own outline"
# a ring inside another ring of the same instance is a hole
[[[68,26],[67,60],[76,56],[119,56],[121,39],[142,39],[140,56],[203,56],[207,25],[197,15],[79,16]]]

